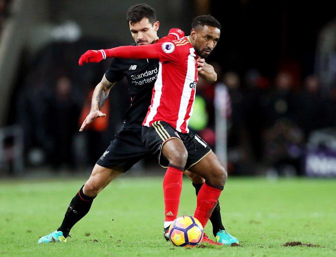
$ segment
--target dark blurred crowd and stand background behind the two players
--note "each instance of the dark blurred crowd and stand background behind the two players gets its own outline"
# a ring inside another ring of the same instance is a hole
[[[110,61],[77,60],[87,49],[132,43],[125,12],[139,2],[95,2],[0,0],[1,175],[91,170],[120,128],[124,80],[103,107],[107,117],[78,132]],[[213,149],[225,135],[230,174],[336,175],[336,13],[328,2],[146,2],[160,36],[170,27],[188,34],[199,14],[223,25],[207,60],[218,80],[199,80],[190,126]],[[219,101],[216,88],[224,90]],[[218,109],[225,130],[216,129]],[[148,166],[158,168],[154,158],[136,168]]]

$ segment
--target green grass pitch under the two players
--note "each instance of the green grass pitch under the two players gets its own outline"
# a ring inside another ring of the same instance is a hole
[[[174,247],[162,235],[162,177],[119,177],[66,243],[37,240],[61,223],[83,179],[0,182],[0,256],[336,256],[336,181],[229,178],[222,219],[242,247]],[[193,214],[184,180],[179,213]],[[211,223],[205,231],[212,236]],[[314,246],[283,246],[301,241]]]

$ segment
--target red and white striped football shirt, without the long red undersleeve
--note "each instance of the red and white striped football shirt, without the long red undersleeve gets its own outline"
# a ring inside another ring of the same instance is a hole
[[[150,126],[161,120],[179,132],[188,133],[198,81],[198,55],[187,37],[156,44],[155,47],[159,69],[142,125]]]

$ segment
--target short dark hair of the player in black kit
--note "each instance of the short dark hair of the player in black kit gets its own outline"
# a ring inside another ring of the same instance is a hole
[[[156,19],[155,9],[148,4],[140,3],[130,6],[126,12],[127,23],[139,22],[143,18],[148,18],[151,24],[154,24]]]

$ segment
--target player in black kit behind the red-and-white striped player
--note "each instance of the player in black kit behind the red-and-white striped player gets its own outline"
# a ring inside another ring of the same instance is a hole
[[[156,20],[155,10],[152,7],[146,4],[131,6],[127,10],[127,22],[131,35],[136,42],[133,45],[155,43],[159,40],[157,36],[159,22]],[[184,32],[175,28],[171,29],[169,34],[162,39],[176,40],[183,36]],[[211,65],[205,63],[204,59],[199,60],[199,65],[199,74],[203,78],[210,82],[216,81],[217,74]],[[150,105],[157,71],[157,59],[112,59],[110,67],[94,90],[90,113],[84,120],[80,131],[95,118],[106,115],[100,111],[100,108],[108,97],[114,83],[126,76],[131,105],[124,115],[123,126],[103,155],[98,159],[89,179],[71,200],[61,226],[50,234],[41,237],[38,241],[39,243],[66,242],[70,229],[88,213],[97,194],[115,177],[126,172],[133,164],[150,154],[143,145],[141,129],[142,121]],[[204,182],[203,178],[189,171],[186,171],[186,174],[192,179],[197,194]],[[221,241],[218,236],[220,233],[225,233],[219,204],[215,207],[210,220],[213,224],[214,235],[217,234],[217,240],[225,244],[225,241]],[[207,236],[204,236],[203,241],[219,244]]]

